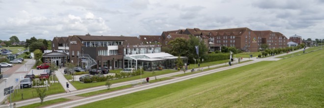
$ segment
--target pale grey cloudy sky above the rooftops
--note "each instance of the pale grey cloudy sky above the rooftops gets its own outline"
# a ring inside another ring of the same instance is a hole
[[[324,0],[0,0],[0,14],[0,40],[237,27],[324,39]]]

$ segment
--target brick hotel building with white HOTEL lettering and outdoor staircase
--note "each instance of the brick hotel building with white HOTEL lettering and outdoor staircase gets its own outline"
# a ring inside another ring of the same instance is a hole
[[[145,37],[145,36],[144,36]],[[157,39],[158,41],[158,39]],[[144,41],[145,42],[145,41]],[[86,35],[72,35],[68,37],[54,37],[53,51],[66,52],[68,54],[67,61],[78,65],[84,69],[108,67],[109,69],[117,68],[138,68],[143,67],[143,62],[137,62],[133,59],[133,55],[142,54],[160,54],[161,42],[145,42],[133,36],[93,36]],[[128,57],[125,60],[125,57]],[[147,63],[147,66],[156,63],[155,61],[165,61],[167,56],[158,56],[161,59],[152,57]],[[184,59],[186,57],[183,57]],[[170,58],[171,59],[171,58]],[[172,58],[173,59],[173,58]],[[145,61],[145,59],[141,59]],[[148,58],[146,59],[148,60]],[[63,61],[63,60],[62,60]],[[133,61],[136,63],[133,65]],[[186,61],[185,61],[186,62]],[[137,65],[138,64],[138,65]],[[167,67],[163,68],[166,69]],[[148,71],[152,68],[146,68]]]

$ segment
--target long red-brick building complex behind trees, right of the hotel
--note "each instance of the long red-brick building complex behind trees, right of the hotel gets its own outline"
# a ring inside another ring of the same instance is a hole
[[[235,47],[244,52],[257,52],[262,44],[267,44],[270,48],[287,47],[287,37],[282,33],[270,30],[254,31],[247,27],[215,30],[187,28],[163,31],[162,46],[166,46],[169,41],[178,37],[188,39],[188,35],[196,36],[204,41],[210,52],[221,50],[221,46]]]

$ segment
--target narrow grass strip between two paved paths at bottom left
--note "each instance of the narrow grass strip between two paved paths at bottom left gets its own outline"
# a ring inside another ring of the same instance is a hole
[[[60,102],[65,102],[65,101],[70,101],[70,99],[59,98],[59,99],[54,99],[54,100],[50,100],[50,101],[45,101],[45,102],[43,102],[43,104],[36,103],[36,104],[30,104],[30,105],[19,107],[19,108],[39,108],[39,107],[45,107],[48,105],[53,105],[53,104],[60,103]]]

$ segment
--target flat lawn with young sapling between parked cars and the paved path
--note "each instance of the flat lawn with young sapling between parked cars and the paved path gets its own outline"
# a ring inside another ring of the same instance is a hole
[[[42,87],[41,89],[46,89],[46,87]],[[15,90],[15,92],[16,92],[16,90]],[[48,87],[48,91],[46,91],[46,94],[51,95],[51,94],[57,94],[57,93],[63,93],[63,92],[65,92],[65,90],[60,83],[54,83],[54,85],[52,85],[52,83],[51,83],[50,87]],[[24,99],[22,99],[22,94],[24,95]],[[22,101],[22,100],[31,99],[31,98],[38,98],[35,88],[19,89],[16,96],[12,95],[11,100],[12,100],[12,102],[16,102],[16,101]]]

